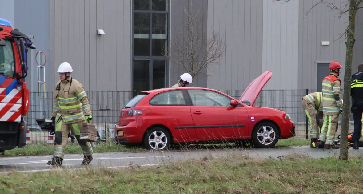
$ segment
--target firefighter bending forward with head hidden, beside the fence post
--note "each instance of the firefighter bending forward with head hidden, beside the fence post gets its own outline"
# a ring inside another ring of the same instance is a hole
[[[310,122],[310,147],[318,147],[319,132],[323,125],[322,93],[314,92],[302,98],[301,104]]]

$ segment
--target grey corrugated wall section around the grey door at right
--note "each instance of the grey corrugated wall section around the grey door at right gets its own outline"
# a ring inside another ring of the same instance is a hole
[[[330,0],[337,7],[343,7],[344,2]],[[338,2],[338,3],[337,3]],[[318,0],[299,1],[299,70],[298,88],[317,88],[317,62],[339,61],[345,64],[345,40],[339,39],[347,26],[346,15],[338,18],[338,11],[332,11],[324,4],[314,7]],[[303,18],[306,15],[305,18]],[[339,39],[339,40],[337,40]],[[322,41],[330,41],[330,45],[321,45]],[[329,72],[327,72],[329,74]],[[344,68],[341,74],[344,75]],[[343,80],[343,76],[341,76]],[[320,82],[320,80],[319,80]]]

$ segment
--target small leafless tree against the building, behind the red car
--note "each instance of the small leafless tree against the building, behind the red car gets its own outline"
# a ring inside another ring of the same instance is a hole
[[[193,0],[189,2],[191,8],[183,8],[187,23],[183,23],[184,28],[176,32],[170,52],[164,53],[184,71],[190,73],[194,80],[196,76],[207,75],[203,69],[213,67],[218,62],[217,59],[225,52],[225,45],[213,29],[208,39],[207,32],[203,30],[203,22],[207,20],[204,20],[199,9],[193,9]]]

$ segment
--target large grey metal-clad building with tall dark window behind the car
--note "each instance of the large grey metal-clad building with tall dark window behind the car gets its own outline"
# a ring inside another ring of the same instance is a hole
[[[205,68],[207,76],[197,77],[194,85],[243,90],[261,73],[272,70],[264,89],[280,92],[270,92],[258,103],[285,106],[287,112],[300,107],[306,88],[321,89],[320,80],[328,74],[331,61],[345,64],[345,41],[335,39],[344,32],[347,17],[339,19],[337,12],[323,4],[306,15],[317,2],[194,0],[194,10],[206,19],[198,29],[210,35],[212,28],[227,45],[218,64]],[[332,1],[343,6],[336,2]],[[132,91],[169,87],[184,73],[160,49],[173,47],[176,32],[183,30],[187,19],[183,7],[190,8],[190,0],[0,0],[0,17],[34,36],[37,48],[47,54],[47,91],[53,91],[56,70],[63,61],[73,65],[73,77],[86,91]],[[98,35],[98,29],[105,35]],[[363,10],[359,10],[353,72],[363,62],[362,39]],[[36,92],[34,64],[27,80]],[[296,99],[287,100],[292,94],[286,90],[294,90]],[[241,93],[230,95],[238,98]],[[273,104],[275,100],[279,103]],[[300,118],[298,114],[305,118],[302,111],[292,117]]]

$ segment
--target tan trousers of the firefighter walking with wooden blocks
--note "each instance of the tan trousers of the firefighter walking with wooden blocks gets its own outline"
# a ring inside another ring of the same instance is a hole
[[[81,122],[76,122],[73,124],[65,124],[62,120],[56,124],[55,138],[54,138],[54,153],[53,157],[64,158],[64,149],[68,141],[68,133],[72,130],[74,137],[76,137],[79,146],[81,146],[83,155],[90,156],[93,154],[93,150],[90,142],[86,140],[80,140],[80,130],[82,127]]]

